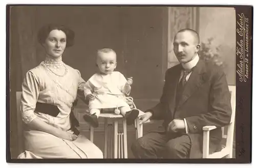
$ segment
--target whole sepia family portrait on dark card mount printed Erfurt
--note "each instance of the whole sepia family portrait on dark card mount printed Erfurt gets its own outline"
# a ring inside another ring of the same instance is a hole
[[[7,160],[248,162],[252,7],[238,8],[7,6]]]

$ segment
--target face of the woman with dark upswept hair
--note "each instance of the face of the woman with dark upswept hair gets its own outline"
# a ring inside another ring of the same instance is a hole
[[[58,58],[65,51],[66,44],[66,34],[61,30],[52,30],[43,45],[48,55]]]

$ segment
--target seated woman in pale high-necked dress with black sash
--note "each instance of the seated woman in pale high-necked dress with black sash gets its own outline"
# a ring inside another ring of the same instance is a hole
[[[86,82],[61,60],[73,40],[74,32],[64,26],[47,25],[38,32],[46,59],[27,72],[22,84],[26,152],[18,158],[103,158],[101,150],[75,128],[73,103],[77,94],[83,95]]]

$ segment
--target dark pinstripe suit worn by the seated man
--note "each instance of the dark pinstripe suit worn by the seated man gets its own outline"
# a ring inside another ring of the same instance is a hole
[[[176,107],[176,90],[181,70],[182,66],[178,64],[166,71],[160,103],[150,109],[153,111],[153,119],[164,119],[164,129],[139,138],[132,145],[135,157],[201,158],[202,127],[207,125],[217,127],[210,132],[210,152],[217,150],[222,138],[221,127],[229,124],[231,117],[226,76],[220,67],[199,60]],[[188,134],[184,130],[179,133],[165,132],[173,119],[183,118],[187,122]]]

